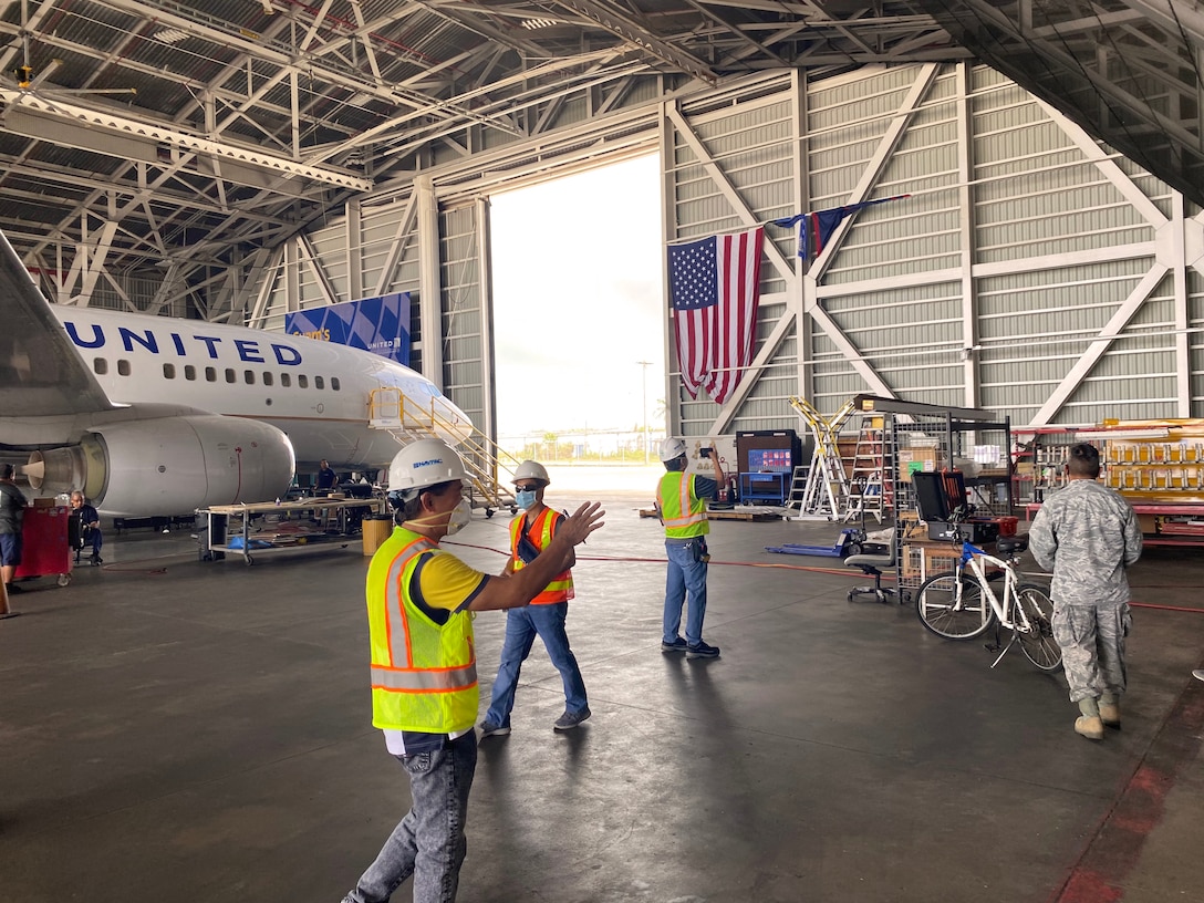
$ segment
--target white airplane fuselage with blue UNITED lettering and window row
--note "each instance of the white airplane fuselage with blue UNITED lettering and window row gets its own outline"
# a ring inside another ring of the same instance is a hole
[[[396,389],[458,441],[472,423],[425,377],[371,352],[242,326],[52,306],[84,366],[118,405],[182,405],[271,424],[299,467],[385,467],[397,439],[370,424],[373,390]]]

